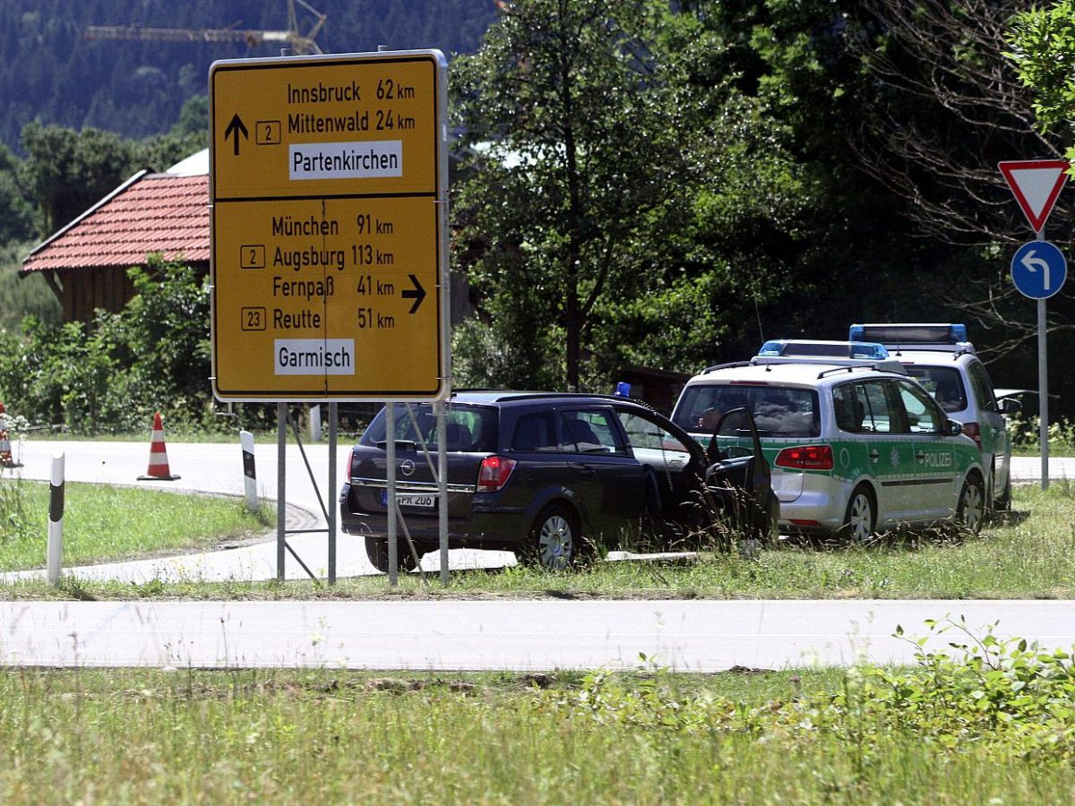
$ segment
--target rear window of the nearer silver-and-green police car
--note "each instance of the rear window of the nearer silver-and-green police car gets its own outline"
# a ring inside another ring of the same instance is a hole
[[[693,433],[710,433],[718,416],[747,406],[760,436],[818,436],[817,392],[800,387],[697,384],[688,386],[676,405],[673,421]]]

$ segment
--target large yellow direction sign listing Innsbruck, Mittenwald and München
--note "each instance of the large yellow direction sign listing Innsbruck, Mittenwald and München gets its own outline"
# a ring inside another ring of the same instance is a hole
[[[213,64],[218,398],[446,393],[445,75],[435,51]]]

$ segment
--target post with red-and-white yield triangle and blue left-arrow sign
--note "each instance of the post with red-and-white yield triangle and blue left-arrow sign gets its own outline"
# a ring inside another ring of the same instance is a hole
[[[1036,241],[1023,244],[1012,259],[1012,282],[1024,297],[1037,300],[1037,416],[1042,445],[1042,489],[1049,489],[1049,363],[1046,300],[1057,293],[1067,276],[1067,261],[1045,240],[1045,222],[1071,168],[1066,160],[1040,159],[1000,162],[998,168],[1012,188]]]

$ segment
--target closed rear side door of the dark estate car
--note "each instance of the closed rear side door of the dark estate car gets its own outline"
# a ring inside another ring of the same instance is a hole
[[[631,455],[611,406],[560,407],[557,415],[564,484],[585,509],[592,536],[615,541],[642,517],[645,467]]]

